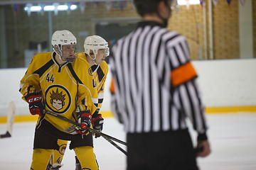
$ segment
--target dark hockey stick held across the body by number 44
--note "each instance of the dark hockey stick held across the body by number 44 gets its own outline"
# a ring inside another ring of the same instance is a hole
[[[62,120],[65,120],[66,122],[72,123],[73,125],[81,126],[80,123],[76,123],[76,122],[74,122],[73,120],[69,120],[68,118],[64,118],[63,116],[58,115],[58,114],[55,114],[55,113],[52,113],[52,112],[50,112],[50,111],[46,111],[46,110],[45,110],[45,113],[47,113],[47,114],[49,114],[49,115],[53,115],[53,116],[56,117],[56,118],[60,118],[60,119],[62,119]],[[110,135],[107,135],[107,134],[102,133],[102,132],[97,132],[97,130],[94,130],[94,129],[92,129],[92,128],[88,128],[88,130],[90,130],[90,132],[94,132],[94,133],[96,133],[97,135],[100,135],[100,136],[104,137],[105,139],[107,138],[107,139],[109,139],[109,140],[114,140],[115,142],[119,142],[120,144],[127,146],[127,143],[126,143],[126,142],[123,142],[122,140],[118,140],[117,138],[114,138],[114,137],[112,137],[112,136],[110,136]]]

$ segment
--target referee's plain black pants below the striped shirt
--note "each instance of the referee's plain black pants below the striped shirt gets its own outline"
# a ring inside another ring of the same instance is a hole
[[[188,130],[128,133],[127,170],[198,170]]]

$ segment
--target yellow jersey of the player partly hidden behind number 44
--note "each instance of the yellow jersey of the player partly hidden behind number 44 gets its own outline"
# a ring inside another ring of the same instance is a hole
[[[103,98],[104,98],[104,90],[105,90],[105,81],[107,78],[107,72],[109,71],[109,67],[107,62],[103,61],[102,64],[93,65],[90,67],[90,64],[86,60],[85,53],[80,52],[78,58],[85,60],[87,63],[85,65],[85,70],[88,70],[88,74],[93,77],[92,86],[97,89],[97,110],[95,113],[99,113],[100,108],[102,107]]]

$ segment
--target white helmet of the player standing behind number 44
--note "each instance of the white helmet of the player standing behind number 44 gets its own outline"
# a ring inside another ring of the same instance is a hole
[[[100,37],[99,35],[92,35],[85,38],[85,54],[90,56],[90,50],[93,51],[95,57],[97,55],[98,50],[100,49],[107,49],[106,55],[110,55],[110,48],[108,47],[107,41]]]

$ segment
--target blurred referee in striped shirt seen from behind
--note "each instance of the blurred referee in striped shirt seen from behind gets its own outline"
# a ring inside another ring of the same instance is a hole
[[[210,154],[197,74],[186,39],[166,29],[170,0],[134,0],[137,28],[112,48],[112,112],[127,132],[127,169],[198,169]],[[198,132],[193,149],[186,125]],[[199,151],[199,149],[201,149]]]

